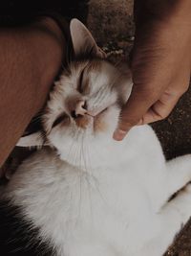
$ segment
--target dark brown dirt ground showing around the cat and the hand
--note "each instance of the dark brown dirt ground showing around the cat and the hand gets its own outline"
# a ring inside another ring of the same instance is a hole
[[[127,59],[134,40],[132,0],[92,0],[88,26],[113,61]],[[166,159],[191,153],[191,86],[164,121],[152,125]],[[140,255],[141,256],[141,255]],[[165,256],[191,256],[191,221],[181,230]]]

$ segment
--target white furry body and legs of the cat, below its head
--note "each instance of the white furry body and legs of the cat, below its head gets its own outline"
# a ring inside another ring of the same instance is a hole
[[[35,153],[11,179],[6,197],[21,205],[57,255],[161,256],[190,217],[190,188],[167,199],[191,179],[191,157],[166,164],[147,126],[133,128],[122,143],[99,145],[99,166],[93,157],[87,170],[53,150]]]

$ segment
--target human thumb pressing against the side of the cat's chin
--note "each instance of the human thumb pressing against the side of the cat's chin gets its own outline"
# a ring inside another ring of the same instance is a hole
[[[122,107],[117,129],[113,136],[115,140],[122,140],[130,128],[138,124],[139,120],[155,102],[151,97],[151,92],[149,93],[147,89],[142,91],[138,87],[136,85],[133,86],[130,98]]]

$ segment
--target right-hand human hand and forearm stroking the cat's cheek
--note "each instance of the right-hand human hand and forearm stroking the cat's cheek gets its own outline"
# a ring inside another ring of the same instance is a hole
[[[135,0],[133,91],[114,139],[130,128],[166,118],[188,89],[191,70],[191,1]]]

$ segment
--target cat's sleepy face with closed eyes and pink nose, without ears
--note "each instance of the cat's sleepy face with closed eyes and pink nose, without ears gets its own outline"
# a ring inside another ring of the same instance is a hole
[[[98,149],[113,140],[121,105],[131,90],[131,80],[108,61],[95,57],[71,62],[55,82],[44,115],[50,144],[72,163],[78,148]]]

